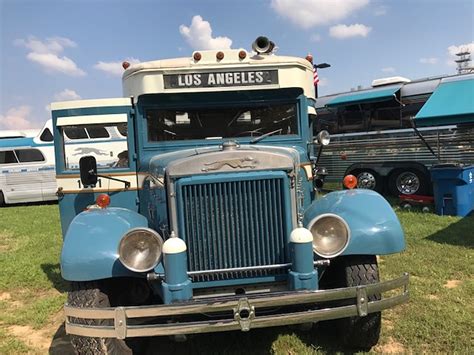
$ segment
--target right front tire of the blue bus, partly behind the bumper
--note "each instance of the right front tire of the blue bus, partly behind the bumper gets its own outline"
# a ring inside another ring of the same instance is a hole
[[[375,255],[351,255],[335,260],[326,270],[322,287],[337,288],[367,285],[379,282]],[[369,296],[369,301],[381,299],[381,295]],[[339,303],[339,306],[344,303]],[[344,346],[353,350],[369,351],[378,343],[382,324],[380,312],[365,317],[338,319],[329,324],[336,328]]]

